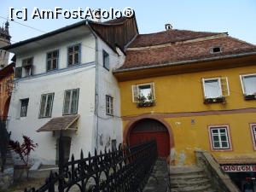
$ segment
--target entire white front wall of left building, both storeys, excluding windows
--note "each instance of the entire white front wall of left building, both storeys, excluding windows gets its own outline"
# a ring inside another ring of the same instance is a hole
[[[81,64],[67,67],[67,47],[81,44]],[[59,49],[59,69],[46,73],[46,53]],[[96,72],[96,38],[90,33],[76,37],[72,41],[53,44],[51,47],[34,49],[29,53],[16,55],[16,67],[21,66],[22,59],[33,56],[34,75],[29,78],[17,79],[15,90],[9,107],[8,129],[12,131],[11,138],[21,142],[22,135],[31,137],[38,148],[32,153],[32,158],[54,164],[56,157],[56,140],[58,133],[37,132],[51,118],[39,119],[41,95],[55,93],[52,118],[62,116],[64,91],[79,88],[79,130],[67,131],[63,135],[72,137],[71,153],[79,158],[80,149],[84,155],[94,148],[95,127],[95,72]],[[20,99],[29,98],[27,115],[20,118]]]

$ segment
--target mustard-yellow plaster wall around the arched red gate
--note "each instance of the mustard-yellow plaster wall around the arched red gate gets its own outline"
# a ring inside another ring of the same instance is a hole
[[[240,75],[256,73],[256,66],[237,67],[214,70],[201,73],[185,73],[162,76],[150,79],[137,79],[119,82],[121,90],[121,113],[124,117],[124,132],[130,122],[127,117],[137,117],[144,113],[150,115],[164,113],[203,112],[209,110],[230,110],[241,108],[256,108],[256,101],[245,101],[241,90]],[[203,103],[201,78],[228,77],[230,96],[226,103]],[[137,108],[132,102],[132,84],[154,82],[156,104],[154,107]],[[163,118],[172,127],[175,143],[175,163],[195,163],[194,150],[196,148],[211,150],[208,125],[230,125],[233,151],[212,152],[216,157],[253,157],[252,137],[249,123],[256,123],[255,113],[226,113],[221,115],[197,115],[189,117]],[[191,124],[195,119],[195,124]],[[124,136],[125,137],[125,136]],[[182,155],[181,155],[182,154]]]

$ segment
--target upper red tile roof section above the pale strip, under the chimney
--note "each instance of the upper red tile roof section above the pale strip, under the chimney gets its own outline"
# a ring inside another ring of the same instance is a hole
[[[206,38],[213,35],[222,34],[219,32],[193,32],[188,30],[168,30],[165,32],[155,32],[150,34],[141,34],[129,45],[132,47],[146,47],[157,44],[168,44],[178,41],[185,41],[195,38]]]

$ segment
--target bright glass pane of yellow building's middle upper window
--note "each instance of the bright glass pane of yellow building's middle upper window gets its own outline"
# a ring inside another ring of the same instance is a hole
[[[205,80],[205,96],[206,98],[217,98],[222,96],[218,79]]]

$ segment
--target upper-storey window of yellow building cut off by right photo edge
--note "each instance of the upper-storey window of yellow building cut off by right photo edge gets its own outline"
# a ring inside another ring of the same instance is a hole
[[[252,96],[256,99],[256,74],[241,75],[241,87],[244,96]]]

